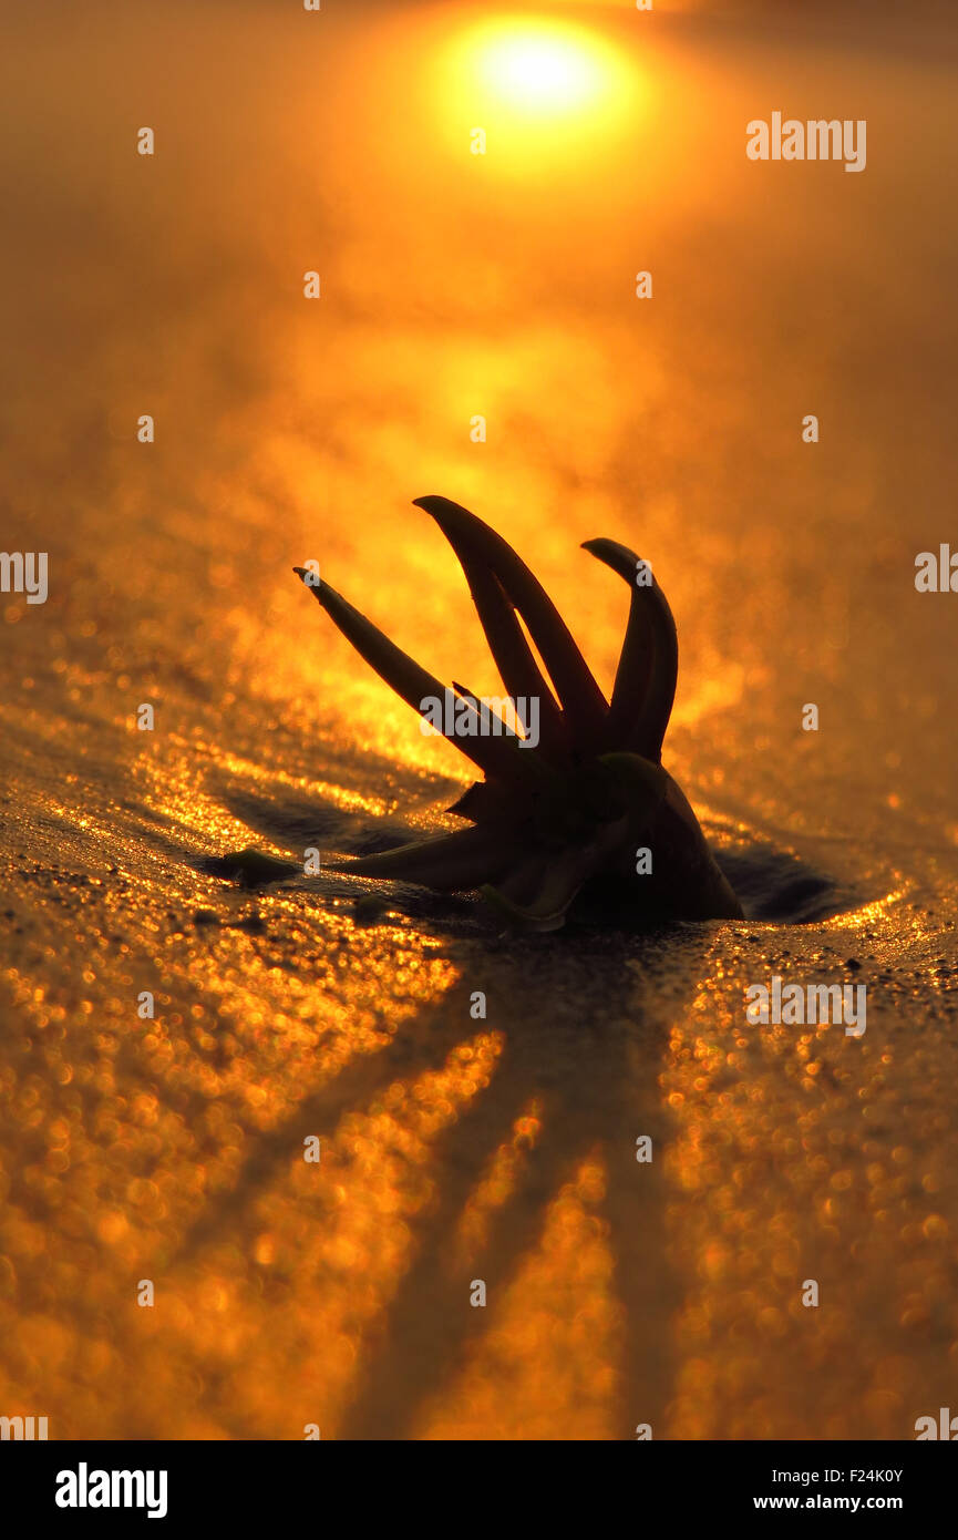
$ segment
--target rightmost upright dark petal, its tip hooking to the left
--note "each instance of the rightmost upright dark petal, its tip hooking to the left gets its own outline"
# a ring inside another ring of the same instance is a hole
[[[584,551],[611,567],[631,588],[628,624],[608,708],[608,742],[647,759],[662,758],[679,670],[679,642],[668,601],[655,576],[638,584],[635,551],[618,541],[585,541]]]

